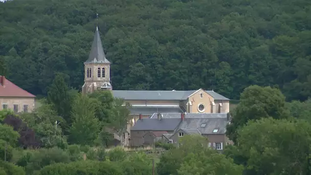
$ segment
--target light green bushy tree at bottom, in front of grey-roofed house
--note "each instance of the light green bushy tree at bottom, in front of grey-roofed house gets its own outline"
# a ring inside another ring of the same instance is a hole
[[[203,136],[185,136],[180,143],[179,147],[170,149],[161,156],[157,165],[159,175],[242,173],[242,166],[209,148],[208,141]]]

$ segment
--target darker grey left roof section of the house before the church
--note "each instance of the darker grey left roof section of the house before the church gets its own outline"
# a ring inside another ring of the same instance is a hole
[[[180,122],[180,118],[162,118],[161,120],[143,118],[141,120],[137,120],[135,125],[130,130],[175,130]]]

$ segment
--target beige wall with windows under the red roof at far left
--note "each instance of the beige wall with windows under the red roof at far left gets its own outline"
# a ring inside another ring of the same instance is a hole
[[[18,113],[24,112],[24,105],[28,105],[28,112],[32,112],[35,107],[34,97],[0,97],[0,110],[3,110],[3,104],[7,104],[10,110],[14,110],[14,104],[18,105]]]

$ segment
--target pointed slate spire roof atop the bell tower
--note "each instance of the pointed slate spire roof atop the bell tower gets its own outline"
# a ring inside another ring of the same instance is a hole
[[[85,61],[88,62],[101,62],[101,63],[110,63],[105,56],[103,45],[100,39],[98,27],[96,27],[96,31],[94,34],[94,39],[92,43],[92,48],[90,55],[88,55],[88,59]]]

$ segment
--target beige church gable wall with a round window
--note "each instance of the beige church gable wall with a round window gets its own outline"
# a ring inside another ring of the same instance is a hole
[[[203,95],[203,97],[201,98],[201,95]],[[201,113],[198,111],[198,105],[199,104],[204,104],[205,106],[205,111],[202,113],[211,113],[211,102],[214,101],[214,98],[212,96],[210,96],[207,92],[205,92],[204,90],[199,90],[197,92],[195,92],[195,94],[191,95],[188,98],[188,101],[192,103],[192,105],[190,105],[190,111],[189,113]],[[188,103],[189,105],[189,103]]]

